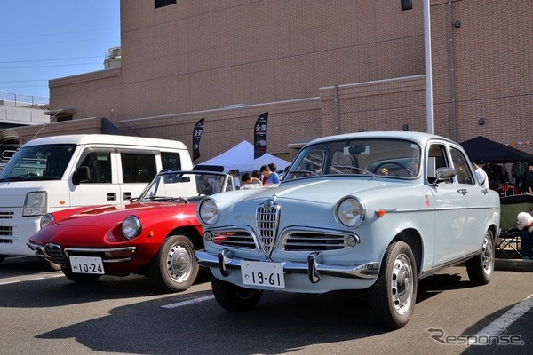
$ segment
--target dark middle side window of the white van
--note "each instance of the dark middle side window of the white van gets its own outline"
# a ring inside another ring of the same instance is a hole
[[[121,153],[124,183],[149,183],[157,173],[155,155]]]

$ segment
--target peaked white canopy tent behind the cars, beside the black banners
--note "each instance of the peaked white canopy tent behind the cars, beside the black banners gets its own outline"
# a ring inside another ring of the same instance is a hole
[[[258,159],[253,159],[253,145],[243,140],[238,145],[226,152],[211,158],[208,161],[201,162],[199,165],[220,165],[224,167],[224,172],[229,170],[239,170],[240,173],[259,170],[262,165],[274,162],[277,170],[283,170],[290,165],[281,158],[272,154],[263,154]]]

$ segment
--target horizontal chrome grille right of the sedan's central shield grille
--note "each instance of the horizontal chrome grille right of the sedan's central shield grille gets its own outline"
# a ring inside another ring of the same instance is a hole
[[[282,248],[285,251],[329,251],[349,248],[346,237],[358,241],[356,235],[331,233],[330,231],[292,231],[283,236]]]

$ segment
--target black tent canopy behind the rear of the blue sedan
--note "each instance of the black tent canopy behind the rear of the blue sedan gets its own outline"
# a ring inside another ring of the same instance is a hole
[[[478,136],[461,143],[472,162],[533,162],[533,155]]]

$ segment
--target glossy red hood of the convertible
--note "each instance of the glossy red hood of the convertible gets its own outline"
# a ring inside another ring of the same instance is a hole
[[[195,211],[195,203],[147,202],[116,206],[91,206],[83,210],[76,209],[72,214],[66,216],[60,216],[56,219],[55,223],[57,225],[72,226],[116,225],[117,223],[122,222],[125,217],[131,215],[135,215],[142,220],[144,217],[151,215],[158,217],[167,214],[175,215],[179,213],[180,210],[190,213],[190,209]]]

